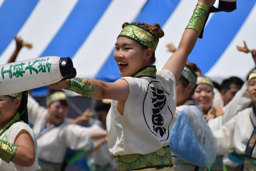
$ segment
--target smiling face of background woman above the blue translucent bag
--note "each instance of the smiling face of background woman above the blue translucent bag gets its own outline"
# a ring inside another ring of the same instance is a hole
[[[203,108],[203,112],[206,113],[212,106],[214,92],[208,84],[199,84],[194,92],[193,99],[196,101],[196,105],[200,105]]]

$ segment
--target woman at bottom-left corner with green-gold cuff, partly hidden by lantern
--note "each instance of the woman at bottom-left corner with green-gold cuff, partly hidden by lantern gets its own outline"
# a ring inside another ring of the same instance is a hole
[[[27,92],[0,96],[0,170],[37,170],[37,141],[27,123]]]

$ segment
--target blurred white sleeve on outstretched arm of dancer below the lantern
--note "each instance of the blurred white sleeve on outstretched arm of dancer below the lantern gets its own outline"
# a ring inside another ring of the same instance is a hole
[[[89,150],[93,145],[93,129],[70,124],[65,128],[65,141],[72,150]]]

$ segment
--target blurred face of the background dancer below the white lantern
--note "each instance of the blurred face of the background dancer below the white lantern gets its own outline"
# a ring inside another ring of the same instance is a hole
[[[49,122],[60,124],[68,113],[68,106],[61,104],[60,101],[53,102],[47,107]]]

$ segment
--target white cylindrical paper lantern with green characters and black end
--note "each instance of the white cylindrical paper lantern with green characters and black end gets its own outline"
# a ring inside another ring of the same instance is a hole
[[[64,77],[60,67],[67,64],[67,61],[60,64],[60,59],[57,56],[48,56],[0,65],[0,95],[26,91],[60,81]],[[69,60],[71,61],[70,58]],[[73,63],[71,66],[73,69]]]

